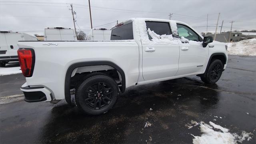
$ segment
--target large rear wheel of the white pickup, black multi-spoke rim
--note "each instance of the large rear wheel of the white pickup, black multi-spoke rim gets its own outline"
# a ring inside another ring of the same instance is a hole
[[[103,114],[116,103],[118,86],[106,75],[95,75],[87,78],[77,89],[76,105],[90,115]]]

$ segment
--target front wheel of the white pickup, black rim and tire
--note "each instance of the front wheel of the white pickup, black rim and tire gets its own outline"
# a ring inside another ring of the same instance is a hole
[[[208,69],[203,76],[201,76],[201,80],[206,84],[214,84],[216,83],[222,74],[223,64],[220,60],[214,59],[212,60]]]

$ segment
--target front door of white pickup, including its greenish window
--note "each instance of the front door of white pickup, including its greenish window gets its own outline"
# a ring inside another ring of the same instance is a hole
[[[179,70],[176,76],[202,72],[209,48],[202,46],[202,38],[188,26],[177,24],[180,42]]]

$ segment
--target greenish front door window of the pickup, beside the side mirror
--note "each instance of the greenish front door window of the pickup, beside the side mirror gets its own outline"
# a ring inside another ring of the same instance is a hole
[[[194,40],[196,42],[202,41],[201,38],[199,38],[198,34],[196,34],[196,32],[194,32],[191,28],[182,24],[177,24],[177,28],[180,38],[184,36],[184,38],[188,40]]]

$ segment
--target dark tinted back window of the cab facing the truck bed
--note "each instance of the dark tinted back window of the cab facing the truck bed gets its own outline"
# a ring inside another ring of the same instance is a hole
[[[133,40],[132,22],[113,29],[110,40]]]

